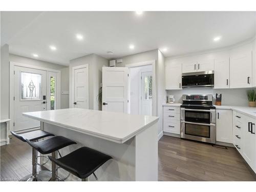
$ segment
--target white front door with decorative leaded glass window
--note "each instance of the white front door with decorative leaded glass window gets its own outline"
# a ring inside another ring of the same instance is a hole
[[[39,127],[22,113],[46,110],[46,71],[14,67],[14,131]]]

